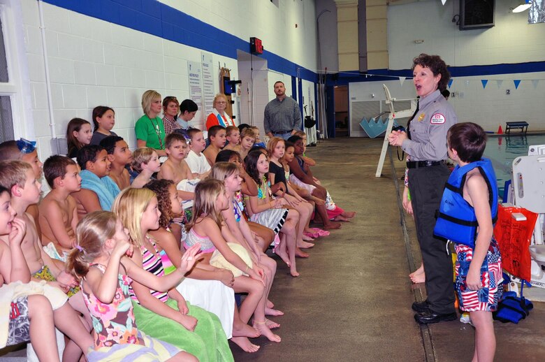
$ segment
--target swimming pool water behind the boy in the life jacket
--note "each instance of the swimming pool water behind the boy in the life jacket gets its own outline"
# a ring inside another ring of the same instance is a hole
[[[492,161],[500,198],[503,196],[505,181],[511,180],[513,160],[527,156],[530,145],[545,145],[545,134],[488,137],[484,157]]]

